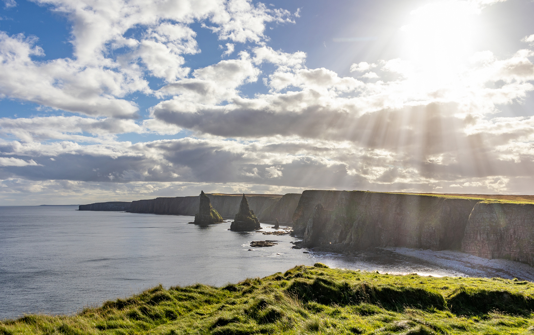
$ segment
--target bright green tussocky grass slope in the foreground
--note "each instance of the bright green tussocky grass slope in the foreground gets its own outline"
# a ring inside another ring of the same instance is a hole
[[[215,288],[156,286],[73,316],[26,315],[0,334],[529,334],[534,284],[396,276],[317,263]]]

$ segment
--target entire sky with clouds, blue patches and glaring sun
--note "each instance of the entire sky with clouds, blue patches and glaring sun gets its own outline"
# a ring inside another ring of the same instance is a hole
[[[531,0],[0,5],[0,205],[534,192]]]

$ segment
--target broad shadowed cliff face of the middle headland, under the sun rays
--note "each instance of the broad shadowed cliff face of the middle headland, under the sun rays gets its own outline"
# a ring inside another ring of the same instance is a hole
[[[308,194],[307,198],[326,197],[331,211],[312,216],[313,211],[308,206],[302,206],[295,211],[294,225],[300,225],[308,218],[303,244],[327,245],[338,250],[371,246],[459,249],[469,213],[477,202],[363,191],[338,191],[330,195],[324,191],[317,193],[315,196]],[[335,198],[337,201],[332,205]],[[301,204],[302,197],[299,206]],[[324,208],[328,210],[327,206]]]

